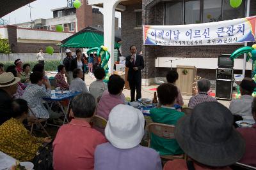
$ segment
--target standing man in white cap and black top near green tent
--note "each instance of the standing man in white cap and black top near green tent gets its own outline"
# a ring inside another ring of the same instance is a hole
[[[72,66],[73,57],[72,57],[71,50],[67,49],[65,52],[66,52],[67,57],[63,60],[63,65],[66,68],[66,72],[67,72],[66,76],[67,76],[68,84],[70,84],[71,81],[74,79],[73,78],[73,66]]]

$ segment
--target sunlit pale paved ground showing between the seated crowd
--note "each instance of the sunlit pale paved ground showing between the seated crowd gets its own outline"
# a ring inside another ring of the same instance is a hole
[[[49,77],[50,77],[50,76],[55,76],[55,74],[56,74],[56,73],[53,73],[53,72],[49,73],[49,72],[48,72],[48,73],[47,73],[47,76],[49,76]],[[85,81],[85,83],[86,83],[86,86],[87,86],[88,89],[89,89],[90,84],[91,84],[94,80],[93,80],[93,78],[92,78],[90,75],[85,74],[85,76],[84,76],[84,81]],[[156,88],[156,87],[158,87],[158,85],[142,86],[142,87],[141,87],[141,96],[142,96],[143,98],[153,99],[153,97],[154,97],[154,91],[152,91],[152,90],[150,90],[150,89],[153,89],[153,88]],[[130,97],[130,90],[124,89],[123,93],[124,93],[125,97]],[[188,102],[189,102],[189,99],[190,99],[191,96],[182,96],[182,97],[183,97],[183,100],[184,100],[184,104],[185,104],[185,105],[188,105]],[[219,100],[219,102],[220,102],[221,104],[223,104],[224,106],[226,106],[226,107],[228,107],[229,104],[230,104],[230,101],[222,101],[222,100]]]

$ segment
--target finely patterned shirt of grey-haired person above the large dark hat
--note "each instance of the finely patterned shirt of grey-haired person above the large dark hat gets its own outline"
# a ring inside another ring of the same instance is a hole
[[[211,97],[207,92],[199,92],[196,96],[191,97],[189,100],[189,108],[194,108],[197,104],[203,102],[218,102],[214,97]]]

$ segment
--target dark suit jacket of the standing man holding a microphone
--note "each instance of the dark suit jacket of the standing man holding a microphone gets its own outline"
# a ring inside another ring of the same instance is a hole
[[[145,65],[144,65],[144,59],[141,55],[136,55],[136,60],[135,60],[135,64],[133,64],[133,62],[131,62],[131,55],[127,56],[125,59],[125,66],[129,67],[129,71],[128,71],[128,76],[127,76],[127,80],[131,81],[131,80],[135,80],[138,82],[141,82],[141,69],[144,69]],[[138,70],[135,71],[133,69],[133,67],[138,67]]]

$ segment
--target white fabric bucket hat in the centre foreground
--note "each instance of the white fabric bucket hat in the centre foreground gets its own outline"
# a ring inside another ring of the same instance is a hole
[[[105,136],[116,148],[134,148],[143,138],[144,124],[145,119],[140,110],[118,104],[109,114]]]

